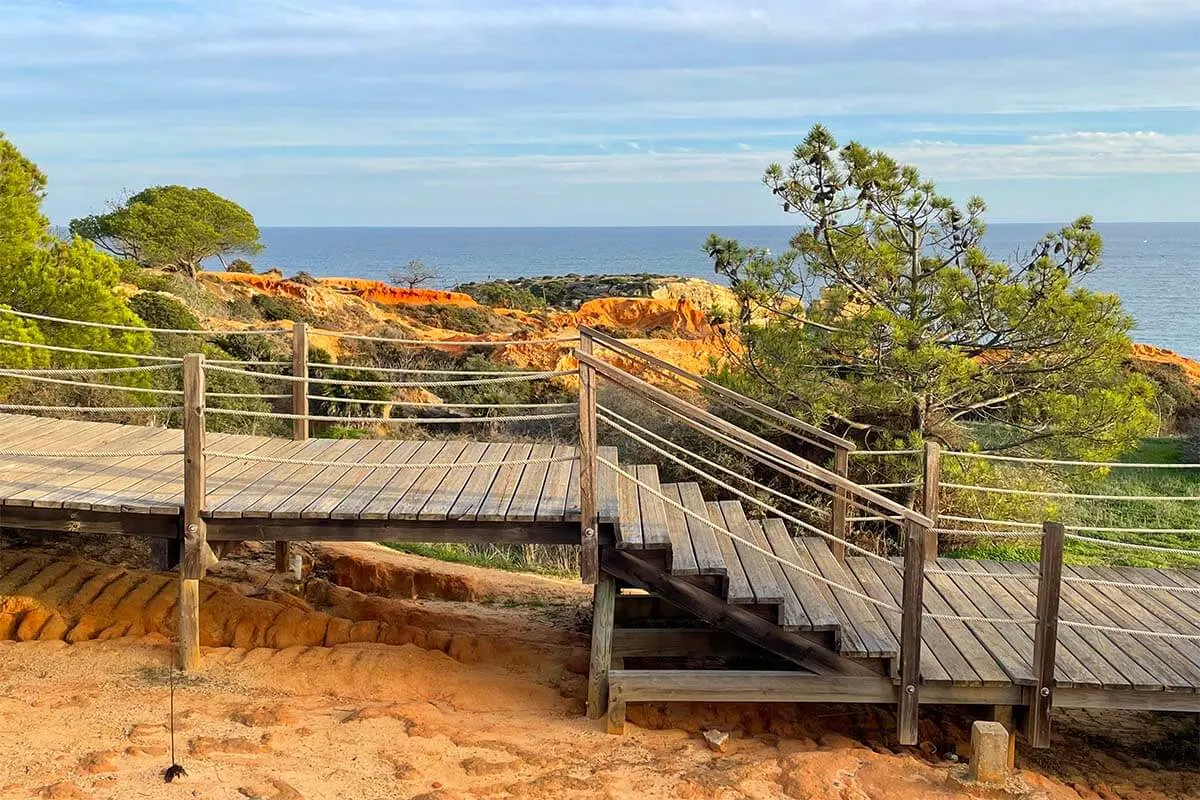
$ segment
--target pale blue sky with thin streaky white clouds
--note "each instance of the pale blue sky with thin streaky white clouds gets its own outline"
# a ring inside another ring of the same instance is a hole
[[[786,224],[821,121],[990,219],[1200,219],[1196,0],[0,0],[0,130],[65,222]]]

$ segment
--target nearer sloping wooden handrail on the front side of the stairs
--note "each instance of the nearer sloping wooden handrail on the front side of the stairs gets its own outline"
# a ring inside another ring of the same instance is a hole
[[[796,453],[784,450],[779,445],[768,441],[762,437],[755,435],[749,431],[744,431],[743,428],[739,428],[738,426],[716,416],[715,414],[706,411],[704,409],[698,408],[685,399],[676,397],[668,391],[661,390],[658,386],[654,386],[653,384],[647,383],[646,380],[642,380],[641,378],[637,378],[625,372],[620,367],[613,366],[607,361],[601,361],[594,355],[588,355],[580,350],[575,351],[575,356],[578,359],[581,365],[587,365],[592,367],[596,373],[604,375],[605,378],[612,380],[613,383],[628,389],[631,392],[641,395],[642,397],[653,401],[654,403],[658,403],[664,408],[674,411],[685,420],[696,420],[703,422],[704,425],[712,428],[716,428],[722,434],[737,439],[743,444],[754,447],[763,453],[767,453],[772,458],[781,461],[792,467],[793,469],[804,473],[805,475],[809,475],[814,479],[818,479],[832,487],[835,488],[840,487],[842,489],[846,489],[847,493],[853,494],[868,503],[871,503],[878,506],[880,509],[890,511],[905,519],[912,521],[913,523],[920,525],[922,528],[932,527],[932,522],[930,522],[930,519],[924,515],[918,513],[912,509],[907,509],[896,503],[895,500],[892,500],[889,498],[883,497],[882,494],[878,494],[877,492],[872,492],[871,489],[864,488],[858,483],[854,483],[850,479],[838,475],[833,470],[826,469],[824,467],[815,464],[808,461],[806,458],[802,458]]]

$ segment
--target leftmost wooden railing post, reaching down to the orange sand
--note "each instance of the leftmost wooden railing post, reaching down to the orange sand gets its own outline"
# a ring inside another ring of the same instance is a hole
[[[200,666],[200,578],[205,529],[200,512],[206,494],[204,467],[204,355],[184,356],[184,552],[179,564],[180,666]]]

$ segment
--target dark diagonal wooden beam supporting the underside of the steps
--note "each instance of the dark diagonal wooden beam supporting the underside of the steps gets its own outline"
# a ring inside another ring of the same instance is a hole
[[[709,625],[739,636],[768,652],[815,673],[875,675],[870,668],[790,633],[744,608],[726,603],[703,589],[697,589],[686,581],[647,564],[626,551],[605,548],[600,554],[600,566],[605,572],[662,597]]]

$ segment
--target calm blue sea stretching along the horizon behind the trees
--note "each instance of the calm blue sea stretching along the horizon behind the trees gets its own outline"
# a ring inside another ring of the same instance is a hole
[[[995,224],[997,258],[1027,252],[1051,224]],[[1088,284],[1116,293],[1138,320],[1139,341],[1200,359],[1200,223],[1098,225],[1104,266]],[[716,279],[701,251],[709,233],[787,248],[791,227],[716,228],[264,228],[259,267],[287,275],[386,279],[409,259],[464,281],[577,272],[653,272]]]

